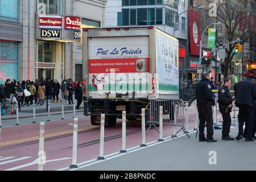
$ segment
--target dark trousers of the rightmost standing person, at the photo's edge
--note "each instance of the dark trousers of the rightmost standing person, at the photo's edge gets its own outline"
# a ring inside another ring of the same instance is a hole
[[[245,122],[245,131],[243,132],[243,123]],[[239,132],[238,135],[244,135],[246,138],[251,138],[253,134],[253,107],[240,106],[238,113]]]

